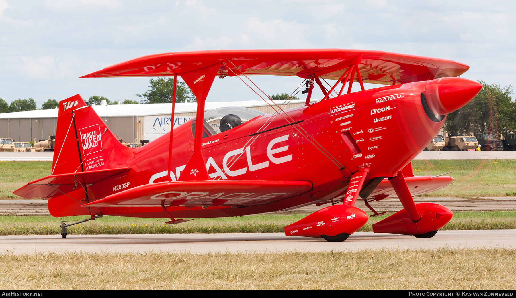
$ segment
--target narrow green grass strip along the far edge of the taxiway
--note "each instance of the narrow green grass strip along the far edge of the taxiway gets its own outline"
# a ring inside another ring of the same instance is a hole
[[[68,227],[68,234],[190,234],[190,233],[284,233],[283,227],[307,214],[258,215],[233,218],[196,219],[181,224],[165,224],[165,219],[138,219],[106,216]],[[373,231],[383,217],[369,218],[359,231]],[[51,216],[0,217],[0,235],[59,235],[61,220],[69,223],[86,217]],[[455,212],[442,230],[516,229],[516,211]]]

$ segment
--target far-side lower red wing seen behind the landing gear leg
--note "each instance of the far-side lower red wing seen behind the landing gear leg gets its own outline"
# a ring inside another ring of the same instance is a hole
[[[453,182],[453,177],[449,176],[413,176],[405,177],[407,186],[412,196],[425,194],[439,190]],[[383,179],[368,198],[393,198],[398,197],[394,188],[387,178]]]

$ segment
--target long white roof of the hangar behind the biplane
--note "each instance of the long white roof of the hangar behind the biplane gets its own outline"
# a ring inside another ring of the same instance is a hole
[[[285,101],[275,101],[278,105]],[[289,104],[304,103],[305,100],[292,100]],[[314,101],[312,101],[314,102]],[[217,102],[205,104],[205,110],[213,110],[222,107],[260,107],[267,106],[264,101],[239,101],[239,102]],[[100,105],[92,106],[100,117],[133,117],[147,115],[163,115],[172,111],[172,104],[138,104],[138,105]],[[175,113],[195,112],[197,103],[177,103]],[[6,118],[54,118],[57,117],[57,109],[35,110],[24,112],[0,113],[0,119]]]

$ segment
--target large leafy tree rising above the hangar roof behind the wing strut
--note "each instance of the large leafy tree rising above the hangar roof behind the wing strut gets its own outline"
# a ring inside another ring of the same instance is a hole
[[[136,94],[136,96],[145,98],[141,102],[143,104],[164,104],[172,102],[172,91],[174,88],[174,79],[169,77],[157,78],[149,80],[151,89],[143,94]],[[175,91],[176,103],[195,103],[197,102],[191,90],[186,86],[185,82],[178,81],[178,86]]]

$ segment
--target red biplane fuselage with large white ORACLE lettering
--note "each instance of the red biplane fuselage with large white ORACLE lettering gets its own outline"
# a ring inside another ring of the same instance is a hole
[[[349,174],[361,168],[369,168],[366,183],[374,177],[395,176],[443,124],[443,120],[432,121],[424,111],[421,94],[426,84],[414,82],[350,93],[285,113],[261,115],[227,131],[208,134],[202,140],[202,153],[211,179],[305,180],[313,184],[313,190],[276,202],[252,200],[252,195],[247,194],[248,200],[230,200],[222,206],[210,206],[199,197],[198,206],[167,210],[177,217],[272,212],[331,199],[339,201],[348,187]],[[193,151],[191,121],[173,131],[170,178],[169,140],[166,134],[148,145],[124,149],[123,162],[117,158],[105,160],[131,170],[90,186],[92,198],[178,180]],[[167,217],[157,207],[99,208],[103,214]]]

